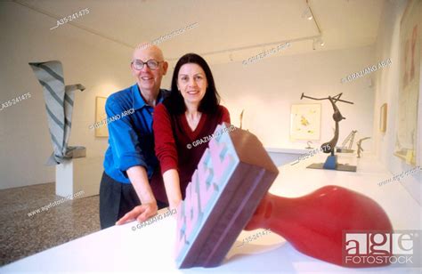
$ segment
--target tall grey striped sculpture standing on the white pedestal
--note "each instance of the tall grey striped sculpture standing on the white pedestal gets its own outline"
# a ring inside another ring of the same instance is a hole
[[[75,90],[84,91],[85,86],[64,85],[63,69],[58,60],[31,62],[29,66],[43,86],[48,128],[53,143],[53,154],[46,165],[58,165],[66,159],[85,157],[85,147],[68,146]]]

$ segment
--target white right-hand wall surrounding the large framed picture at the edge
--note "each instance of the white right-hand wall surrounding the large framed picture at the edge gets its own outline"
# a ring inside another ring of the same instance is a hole
[[[394,156],[395,133],[397,128],[397,113],[398,113],[398,98],[399,98],[399,50],[400,50],[400,22],[402,14],[409,1],[398,2],[395,4],[385,4],[382,13],[380,28],[377,36],[377,43],[375,44],[375,56],[377,59],[390,58],[393,62],[391,68],[383,70],[377,74],[375,81],[376,100],[374,104],[375,118],[374,118],[374,136],[376,144],[376,152],[381,162],[394,174],[402,173],[403,171],[414,168],[413,165],[406,164],[401,158]],[[419,4],[419,12],[420,4]],[[422,15],[422,14],[421,14]],[[419,17],[422,26],[422,16]],[[419,36],[419,43],[421,43]],[[421,47],[422,50],[422,47]],[[420,54],[422,56],[422,52]],[[419,63],[418,66],[421,66]],[[422,68],[420,69],[422,73]],[[420,77],[422,79],[422,76]],[[419,85],[418,97],[418,148],[417,148],[417,165],[422,163],[422,96],[421,85]],[[380,133],[378,130],[379,109],[387,103],[387,126],[386,132]],[[421,203],[422,182],[421,173],[413,173],[401,179],[402,185],[409,190],[410,195]],[[394,181],[393,183],[399,183]],[[388,188],[388,185],[383,188]]]

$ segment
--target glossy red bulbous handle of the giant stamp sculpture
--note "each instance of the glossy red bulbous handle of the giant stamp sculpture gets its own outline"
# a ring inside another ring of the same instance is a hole
[[[374,200],[350,189],[326,186],[303,197],[267,193],[245,230],[270,229],[298,251],[344,266],[343,231],[393,232],[388,216]],[[382,266],[384,263],[357,266]]]

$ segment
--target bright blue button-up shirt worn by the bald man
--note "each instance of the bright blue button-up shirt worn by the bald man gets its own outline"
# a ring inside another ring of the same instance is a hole
[[[168,94],[168,91],[160,89],[157,104]],[[139,87],[135,84],[111,94],[105,109],[109,127],[109,148],[104,159],[105,173],[116,181],[130,183],[126,170],[142,165],[150,178],[158,166],[152,133],[154,108],[143,100]],[[125,113],[128,114],[124,115]]]

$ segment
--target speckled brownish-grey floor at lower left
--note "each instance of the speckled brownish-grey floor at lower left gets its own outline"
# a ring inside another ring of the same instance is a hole
[[[61,200],[53,182],[0,190],[0,266],[100,230],[99,197],[79,197],[29,217]]]

